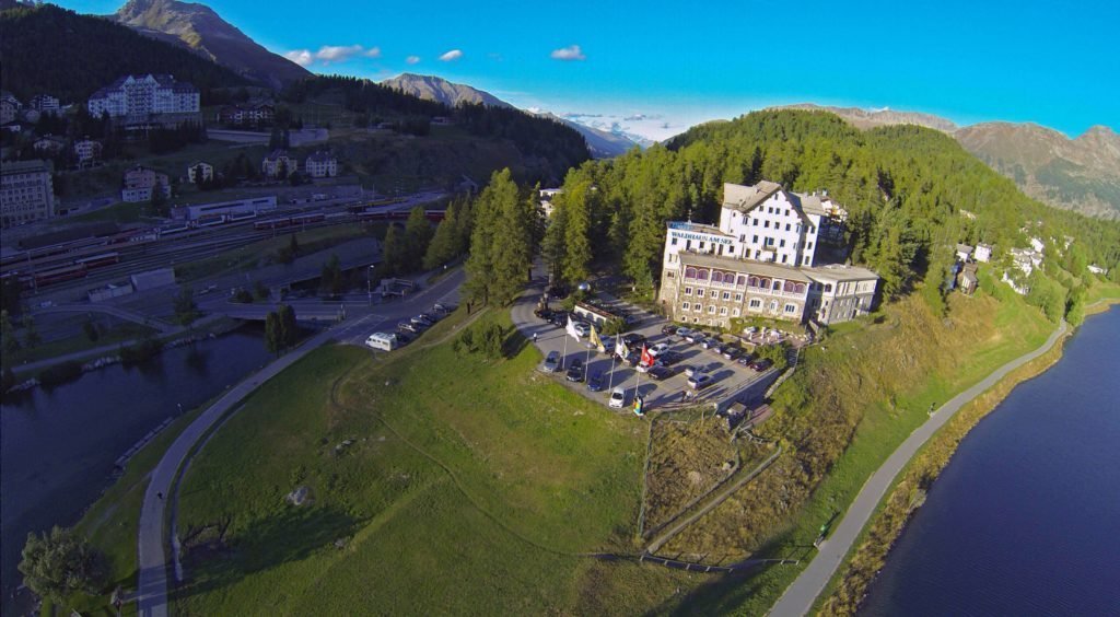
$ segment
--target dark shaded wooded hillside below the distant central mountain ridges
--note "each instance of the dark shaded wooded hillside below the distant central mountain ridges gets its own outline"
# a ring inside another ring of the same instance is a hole
[[[286,87],[281,99],[291,103],[329,99],[357,115],[361,125],[395,121],[405,132],[423,135],[433,116],[446,116],[456,127],[479,139],[512,143],[522,160],[505,160],[501,167],[524,168],[522,181],[559,181],[569,168],[590,158],[584,138],[553,120],[520,110],[461,103],[448,107],[396,88],[357,77],[311,77]]]

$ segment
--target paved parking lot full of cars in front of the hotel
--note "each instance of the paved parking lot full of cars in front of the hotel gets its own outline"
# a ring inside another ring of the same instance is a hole
[[[550,352],[557,352],[561,356],[561,368],[551,373],[554,378],[605,405],[610,391],[616,386],[626,389],[624,409],[627,411],[633,409],[635,395],[643,396],[646,411],[693,404],[698,401],[717,401],[729,393],[740,391],[749,398],[760,398],[765,387],[777,377],[773,368],[757,372],[749,366],[729,361],[715,350],[703,349],[700,345],[682,340],[678,336],[663,335],[662,327],[670,324],[664,318],[600,296],[599,305],[614,310],[622,309],[637,318],[627,334],[637,333],[645,336],[648,346],[664,343],[669,346],[669,352],[675,355],[675,361],[668,367],[671,374],[663,380],[654,380],[648,374],[638,373],[613,354],[590,348],[587,337],[577,340],[562,326],[552,325],[536,317],[533,310],[543,291],[543,278],[538,277],[534,279],[532,290],[522,296],[513,307],[514,324],[530,339],[536,335],[536,346],[542,356],[548,356]],[[553,308],[557,308],[557,305],[558,302],[551,303]],[[637,345],[637,350],[641,350],[641,345]],[[587,365],[581,382],[568,382],[566,378],[567,370],[575,359],[580,359]],[[684,371],[687,366],[703,367],[712,377],[710,385],[700,390],[690,387]],[[588,389],[588,377],[596,373],[601,374],[604,385],[601,391],[591,392]]]

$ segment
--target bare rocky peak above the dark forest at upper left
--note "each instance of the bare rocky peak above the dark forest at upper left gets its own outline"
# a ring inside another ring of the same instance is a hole
[[[151,38],[185,46],[272,88],[311,75],[302,66],[258,45],[204,4],[129,0],[110,19]]]

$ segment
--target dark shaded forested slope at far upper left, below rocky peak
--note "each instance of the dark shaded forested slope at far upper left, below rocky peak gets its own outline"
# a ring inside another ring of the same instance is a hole
[[[248,82],[186,49],[152,40],[108,19],[53,4],[0,12],[0,81],[20,100],[40,93],[84,101],[129,73],[169,73],[209,90]]]

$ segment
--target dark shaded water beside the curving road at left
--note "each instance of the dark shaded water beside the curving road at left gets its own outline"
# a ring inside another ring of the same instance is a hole
[[[12,609],[28,532],[73,525],[109,485],[113,462],[168,417],[190,410],[269,359],[260,327],[110,366],[0,405],[3,613]]]

